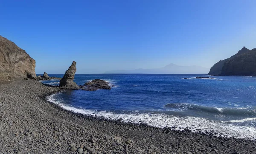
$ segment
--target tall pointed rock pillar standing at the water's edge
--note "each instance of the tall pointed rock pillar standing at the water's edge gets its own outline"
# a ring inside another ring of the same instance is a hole
[[[73,61],[71,66],[68,68],[68,70],[64,74],[63,78],[61,78],[60,87],[62,89],[73,89],[73,90],[79,89],[79,86],[74,82],[75,73],[76,73],[76,62]]]

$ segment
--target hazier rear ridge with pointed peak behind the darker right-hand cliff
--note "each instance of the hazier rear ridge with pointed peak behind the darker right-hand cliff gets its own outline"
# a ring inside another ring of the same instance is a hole
[[[216,64],[214,64],[212,66],[212,68],[210,69],[210,72],[209,74],[210,75],[220,75],[220,74],[224,74],[224,72],[222,72],[222,68],[224,67],[224,64],[227,65],[226,63],[230,63],[230,61],[232,61],[232,59],[236,58],[236,57],[239,57],[241,55],[244,55],[246,53],[250,53],[251,50],[247,49],[247,48],[242,48],[241,50],[238,51],[238,53],[236,53],[235,55],[231,56],[230,58],[228,59],[224,59],[224,60],[221,60],[219,62],[217,62]],[[228,70],[230,71],[230,70]]]

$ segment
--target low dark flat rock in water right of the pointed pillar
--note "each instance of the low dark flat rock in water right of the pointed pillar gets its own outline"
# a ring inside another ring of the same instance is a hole
[[[84,86],[81,86],[81,88],[82,90],[87,90],[87,91],[94,91],[99,89],[108,89],[108,90],[111,89],[108,83],[101,79],[94,79],[93,81],[86,82]]]

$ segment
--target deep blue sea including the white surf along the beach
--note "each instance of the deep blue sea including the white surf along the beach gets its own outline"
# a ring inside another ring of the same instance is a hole
[[[113,120],[255,138],[256,77],[196,76],[207,75],[76,74],[74,81],[78,85],[99,78],[108,81],[112,89],[65,90],[47,99],[74,112]],[[59,84],[59,80],[42,82]]]

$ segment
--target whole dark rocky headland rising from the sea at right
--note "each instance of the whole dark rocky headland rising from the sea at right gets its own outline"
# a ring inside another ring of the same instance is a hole
[[[249,50],[243,47],[230,58],[214,64],[209,75],[256,76],[256,48]]]

